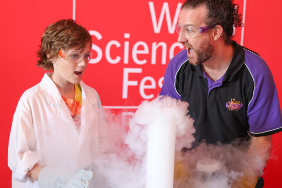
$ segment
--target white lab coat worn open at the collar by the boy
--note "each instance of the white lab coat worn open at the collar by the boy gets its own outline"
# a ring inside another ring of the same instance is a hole
[[[16,107],[8,149],[13,188],[38,188],[37,181],[26,177],[36,163],[75,170],[92,163],[99,150],[99,129],[106,121],[97,92],[80,82],[78,134],[69,108],[47,74],[24,92]]]

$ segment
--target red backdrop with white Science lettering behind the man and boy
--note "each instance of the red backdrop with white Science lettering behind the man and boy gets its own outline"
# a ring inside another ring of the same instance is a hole
[[[105,108],[134,108],[160,91],[169,59],[180,51],[174,25],[182,0],[11,0],[0,6],[0,53],[3,72],[0,112],[1,188],[11,187],[7,166],[8,140],[22,93],[40,82],[44,71],[36,64],[36,50],[47,25],[75,18],[93,35],[92,62],[83,81],[94,87]],[[259,53],[268,63],[282,106],[281,1],[235,0],[244,14],[244,29],[235,40]],[[245,10],[245,11],[244,11]],[[279,188],[282,172],[282,133],[272,136],[273,158],[265,169],[266,188]]]

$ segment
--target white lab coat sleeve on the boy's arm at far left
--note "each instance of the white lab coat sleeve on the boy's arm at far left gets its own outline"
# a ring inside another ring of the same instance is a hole
[[[14,114],[9,147],[8,166],[17,181],[26,182],[26,174],[38,162],[31,104],[26,97],[21,97]]]

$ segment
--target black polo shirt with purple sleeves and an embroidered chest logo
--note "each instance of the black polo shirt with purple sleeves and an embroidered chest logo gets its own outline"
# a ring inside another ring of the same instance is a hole
[[[225,74],[213,82],[189,63],[186,49],[168,64],[160,95],[187,101],[196,141],[228,143],[235,138],[282,130],[277,90],[266,62],[233,42],[235,53]]]

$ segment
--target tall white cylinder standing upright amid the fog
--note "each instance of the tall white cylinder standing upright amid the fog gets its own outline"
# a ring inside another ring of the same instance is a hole
[[[148,124],[146,188],[173,188],[176,125],[165,117]]]

